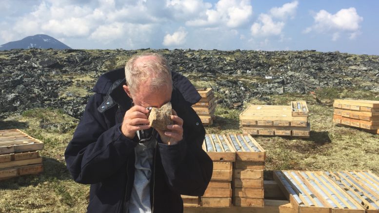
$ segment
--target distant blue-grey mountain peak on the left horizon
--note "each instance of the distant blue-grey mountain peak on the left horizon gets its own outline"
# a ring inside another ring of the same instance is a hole
[[[71,49],[71,47],[54,39],[51,36],[44,34],[37,34],[34,36],[28,36],[21,40],[11,41],[0,45],[1,50],[11,50],[11,49],[29,49],[29,48],[40,48],[48,49],[53,48],[57,50]]]

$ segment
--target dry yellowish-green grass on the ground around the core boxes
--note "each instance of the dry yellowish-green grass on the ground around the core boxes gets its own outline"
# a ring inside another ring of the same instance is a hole
[[[378,95],[362,91],[324,89],[317,92],[321,100],[339,97]],[[339,93],[339,94],[336,94]],[[217,94],[216,94],[217,95]],[[375,96],[374,96],[375,97]],[[379,135],[353,128],[338,127],[332,122],[333,107],[319,105],[309,95],[283,94],[268,101],[252,99],[254,104],[284,104],[306,100],[310,110],[311,137],[255,136],[267,151],[265,179],[274,170],[371,170],[379,175]],[[372,98],[371,98],[372,99]],[[241,110],[217,106],[216,120],[207,133],[241,133]],[[75,183],[64,161],[64,150],[79,120],[58,109],[34,109],[0,121],[0,129],[19,128],[44,142],[40,151],[44,172],[0,181],[0,212],[85,212],[89,186]]]

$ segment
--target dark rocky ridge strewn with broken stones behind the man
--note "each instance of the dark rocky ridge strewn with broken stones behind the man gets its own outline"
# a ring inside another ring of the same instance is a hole
[[[240,108],[251,98],[357,88],[379,94],[379,56],[315,51],[11,50],[0,51],[0,117],[32,108],[82,115],[96,79],[141,51],[164,55],[173,71],[212,86],[218,104]]]

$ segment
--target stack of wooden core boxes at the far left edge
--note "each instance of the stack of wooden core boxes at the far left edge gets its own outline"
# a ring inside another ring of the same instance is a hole
[[[0,180],[43,171],[43,143],[18,129],[0,131]]]

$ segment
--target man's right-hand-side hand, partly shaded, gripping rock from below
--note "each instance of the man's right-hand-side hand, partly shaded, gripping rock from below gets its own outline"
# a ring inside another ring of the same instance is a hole
[[[167,129],[171,131],[158,130],[160,139],[164,144],[174,145],[183,139],[183,119],[181,119],[175,110],[172,110],[171,120],[174,121],[173,125],[167,125]]]

